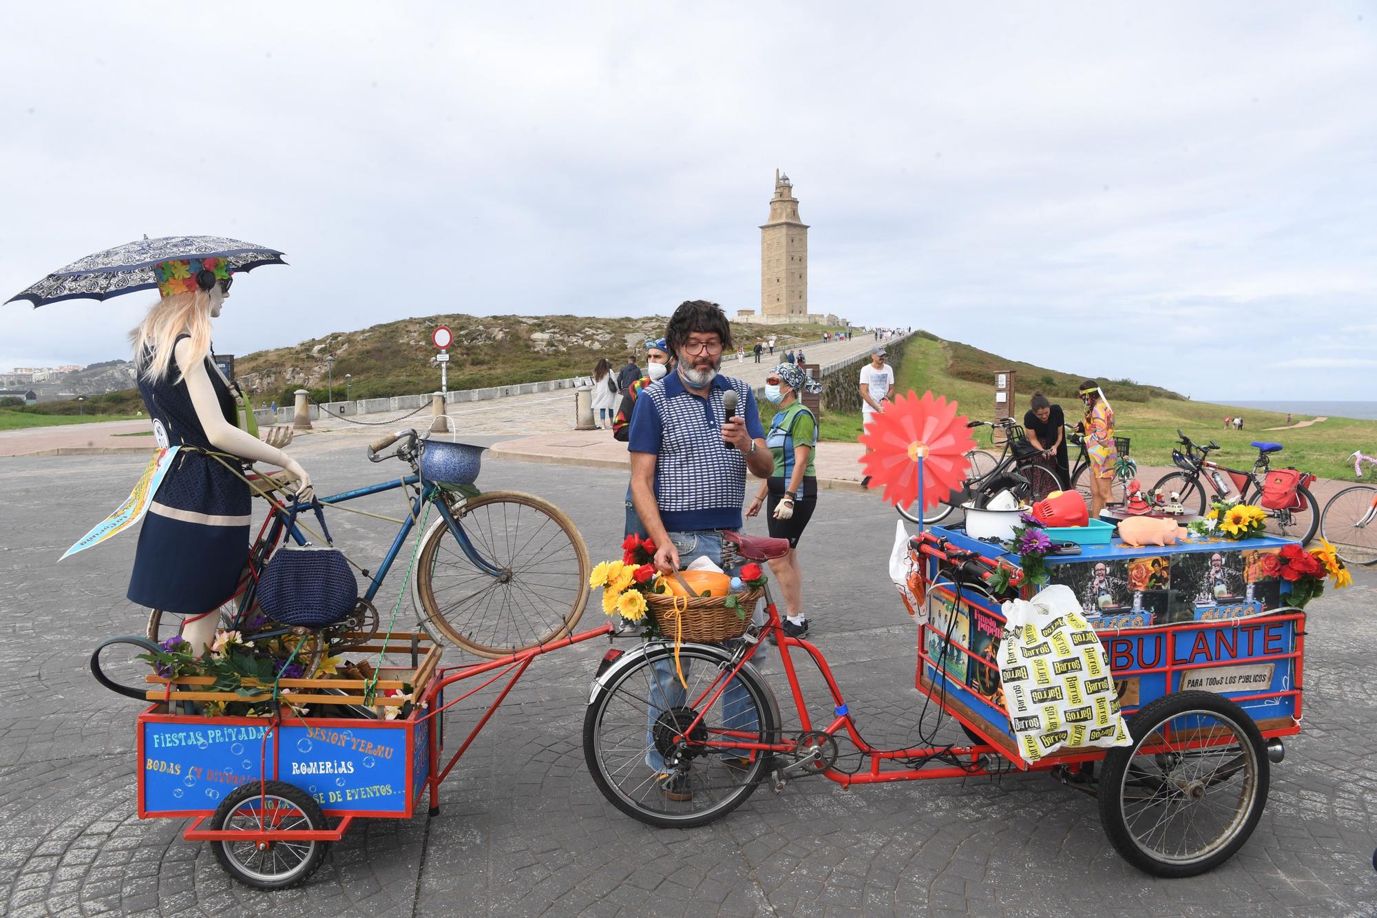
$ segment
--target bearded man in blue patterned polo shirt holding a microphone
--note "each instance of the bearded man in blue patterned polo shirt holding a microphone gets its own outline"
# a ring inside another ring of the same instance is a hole
[[[631,496],[640,522],[655,543],[655,567],[665,573],[706,557],[719,568],[722,531],[739,529],[746,470],[759,478],[774,471],[756,397],[739,379],[717,375],[722,353],[731,347],[731,325],[716,303],[684,302],[665,327],[675,369],[640,393],[631,418]],[[737,567],[726,568],[735,573]],[[756,624],[764,620],[756,615]],[[655,667],[647,728],[666,710],[684,704],[684,689],[672,664]],[[684,662],[684,677],[688,666]],[[735,682],[720,699],[715,721],[756,729],[750,699]],[[742,768],[734,759],[691,762],[666,769],[647,729],[646,764],[657,769],[660,791],[669,801],[691,801],[694,787],[711,787],[712,768]]]

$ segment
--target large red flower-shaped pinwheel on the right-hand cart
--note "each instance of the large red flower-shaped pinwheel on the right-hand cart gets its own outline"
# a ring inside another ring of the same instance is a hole
[[[918,499],[920,469],[923,510],[965,481],[971,465],[965,453],[975,449],[975,438],[956,408],[943,396],[925,391],[920,398],[910,389],[907,397],[896,396],[888,408],[870,415],[861,434],[870,452],[861,456],[861,465],[870,487],[884,488],[887,503],[906,507]]]

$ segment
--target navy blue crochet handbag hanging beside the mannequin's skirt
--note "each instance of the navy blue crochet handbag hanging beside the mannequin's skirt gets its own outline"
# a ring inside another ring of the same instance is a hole
[[[354,579],[344,553],[333,547],[321,502],[313,499],[308,506],[321,522],[326,544],[285,544],[278,549],[259,578],[259,605],[274,622],[321,629],[343,620],[354,611],[358,605],[358,580]],[[288,536],[300,509],[299,503],[292,506],[286,518]]]

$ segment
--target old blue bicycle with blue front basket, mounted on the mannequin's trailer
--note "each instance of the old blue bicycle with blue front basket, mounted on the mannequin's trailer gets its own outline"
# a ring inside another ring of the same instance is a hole
[[[395,451],[383,453],[394,445]],[[402,430],[372,442],[368,458],[372,462],[399,459],[410,466],[410,474],[318,498],[325,506],[343,504],[401,488],[409,506],[402,520],[365,513],[398,524],[397,535],[376,571],[362,571],[368,586],[354,613],[319,630],[288,629],[263,620],[256,602],[259,573],[284,539],[308,544],[308,527],[292,521],[281,481],[251,476],[255,493],[267,496],[271,506],[249,549],[235,595],[218,612],[222,627],[241,631],[244,640],[300,635],[304,644],[297,656],[303,669],[311,671],[325,653],[365,644],[379,627],[373,605],[377,593],[430,507],[439,518],[420,538],[409,586],[420,624],[437,642],[498,659],[569,634],[584,612],[589,591],[588,550],[582,536],[548,500],[518,491],[479,492],[472,487],[479,455],[478,447],[420,440],[414,430]],[[273,496],[280,492],[284,493],[281,499]],[[402,558],[403,568],[406,564]],[[146,637],[110,638],[96,648],[91,657],[92,674],[106,688],[142,699],[147,691],[143,680],[147,664],[136,663],[135,655],[150,652],[150,646],[179,634],[185,618],[153,609]]]

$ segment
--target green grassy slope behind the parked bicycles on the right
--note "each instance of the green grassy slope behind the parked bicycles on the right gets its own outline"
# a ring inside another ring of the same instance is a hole
[[[1027,411],[1029,397],[1036,390],[1059,402],[1067,420],[1074,423],[1078,419],[1081,407],[1077,389],[1081,376],[1005,361],[969,345],[931,335],[916,335],[909,343],[898,369],[895,390],[902,393],[913,389],[921,393],[931,389],[936,394],[956,398],[963,414],[990,420],[994,418],[994,372],[1009,368],[1018,371],[1015,415],[1020,422]],[[1279,453],[1281,465],[1305,469],[1326,478],[1352,478],[1354,469],[1344,462],[1345,456],[1358,448],[1365,452],[1377,448],[1377,422],[1373,420],[1330,418],[1310,427],[1265,430],[1283,426],[1286,415],[1190,401],[1175,391],[1132,380],[1102,380],[1100,385],[1114,405],[1117,433],[1132,438],[1131,452],[1139,465],[1170,465],[1177,427],[1191,440],[1215,440],[1221,449],[1212,453],[1212,458],[1223,465],[1252,467],[1257,451],[1248,444],[1253,440],[1275,440],[1286,447]],[[1242,416],[1243,430],[1226,430],[1226,415]],[[1310,418],[1293,418],[1293,422],[1300,420]],[[825,440],[855,440],[859,433],[858,416],[825,414],[822,418]]]

